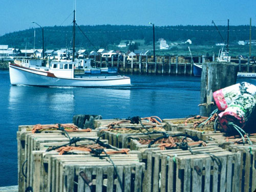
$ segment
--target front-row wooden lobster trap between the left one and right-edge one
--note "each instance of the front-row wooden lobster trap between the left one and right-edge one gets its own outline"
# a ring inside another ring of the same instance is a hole
[[[240,158],[217,146],[151,151],[143,191],[239,191]]]

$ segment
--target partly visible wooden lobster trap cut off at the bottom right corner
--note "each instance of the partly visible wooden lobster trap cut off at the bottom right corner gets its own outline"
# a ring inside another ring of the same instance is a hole
[[[239,191],[253,192],[256,190],[256,144],[226,145],[226,150],[241,153],[241,166],[239,167]]]

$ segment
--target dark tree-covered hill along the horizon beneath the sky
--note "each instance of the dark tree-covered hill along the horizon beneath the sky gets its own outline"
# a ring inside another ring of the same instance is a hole
[[[153,41],[152,26],[132,25],[96,25],[76,27],[76,48],[96,50],[108,48],[109,45],[118,45],[121,40],[144,39],[145,45]],[[249,39],[249,26],[229,26],[229,43],[237,44],[239,40]],[[227,26],[218,26],[224,39],[227,39]],[[36,28],[35,48],[41,48],[41,28]],[[252,27],[252,39],[256,39],[256,27]],[[72,47],[72,26],[44,27],[45,48],[60,49]],[[222,38],[214,26],[155,26],[155,38],[164,38],[170,41],[185,41],[190,39],[193,45],[215,45],[222,42]],[[0,45],[20,49],[34,47],[34,29],[16,31],[0,36]]]

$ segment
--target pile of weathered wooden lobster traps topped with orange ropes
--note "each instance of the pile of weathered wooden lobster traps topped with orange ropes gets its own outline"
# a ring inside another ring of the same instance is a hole
[[[256,188],[255,135],[243,142],[227,137],[214,119],[133,117],[95,120],[94,126],[19,126],[19,191]]]

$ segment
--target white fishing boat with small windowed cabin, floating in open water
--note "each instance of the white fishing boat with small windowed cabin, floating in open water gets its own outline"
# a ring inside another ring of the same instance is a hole
[[[44,60],[23,59],[9,62],[11,84],[46,87],[117,87],[131,86],[130,77],[75,76],[75,62],[53,61],[44,67]]]

